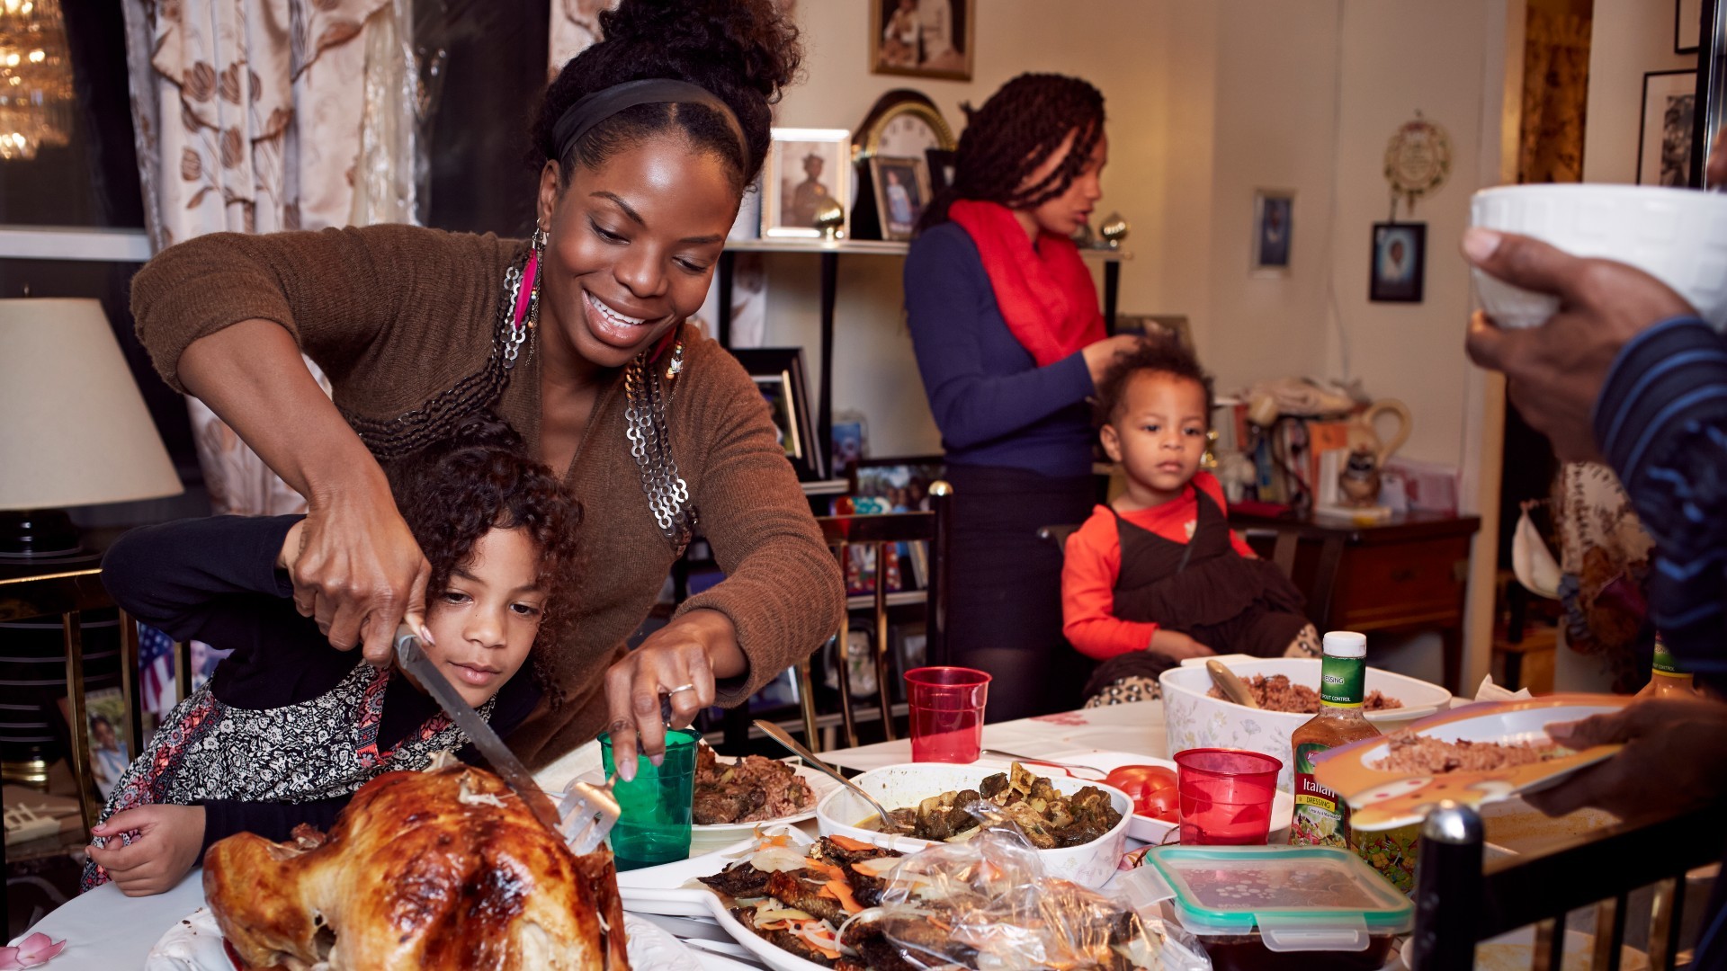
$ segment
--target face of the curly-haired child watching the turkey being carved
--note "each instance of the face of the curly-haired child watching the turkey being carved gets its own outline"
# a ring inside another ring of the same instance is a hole
[[[427,657],[465,701],[480,707],[522,670],[546,612],[539,589],[539,548],[522,529],[494,529],[473,556],[432,591]]]

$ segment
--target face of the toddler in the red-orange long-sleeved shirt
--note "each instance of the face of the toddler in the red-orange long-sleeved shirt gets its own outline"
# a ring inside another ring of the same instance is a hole
[[[1121,415],[1104,425],[1104,451],[1121,463],[1129,486],[1154,503],[1181,494],[1205,454],[1205,389],[1166,371],[1128,378]]]

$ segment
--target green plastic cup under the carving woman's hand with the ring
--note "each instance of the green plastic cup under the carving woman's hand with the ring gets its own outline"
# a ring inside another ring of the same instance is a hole
[[[670,864],[689,859],[689,803],[696,788],[696,733],[667,729],[665,760],[655,765],[646,755],[636,757],[636,777],[617,779],[617,826],[611,828],[611,855],[618,871]],[[606,777],[618,774],[611,757],[611,736],[599,736],[599,760]]]

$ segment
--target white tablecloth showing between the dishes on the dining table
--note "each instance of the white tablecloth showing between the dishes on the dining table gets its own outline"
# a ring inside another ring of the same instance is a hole
[[[1161,701],[1000,722],[984,726],[983,739],[990,748],[1045,758],[1095,748],[1167,757]],[[864,745],[824,753],[824,758],[851,769],[876,769],[910,762],[912,743],[901,739]],[[537,779],[549,791],[558,791],[572,777],[591,769],[599,769],[596,743],[584,745],[547,765]],[[150,945],[174,921],[202,905],[202,869],[193,869],[180,886],[155,897],[126,897],[112,883],[98,886],[43,917],[29,933],[41,931],[54,940],[67,942],[66,950],[48,966],[52,969],[123,971],[143,968]],[[698,957],[708,961],[708,955],[699,952]]]

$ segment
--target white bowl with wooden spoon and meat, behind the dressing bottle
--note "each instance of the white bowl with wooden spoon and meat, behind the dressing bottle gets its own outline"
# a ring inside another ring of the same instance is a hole
[[[1249,658],[1235,655],[1221,660],[1243,681],[1256,674],[1264,674],[1266,677],[1283,674],[1295,684],[1306,684],[1314,691],[1319,689],[1321,662],[1318,658]],[[1207,695],[1211,691],[1211,674],[1205,670],[1204,662],[1173,667],[1157,681],[1164,689],[1164,729],[1171,757],[1188,748],[1245,748],[1249,752],[1261,752],[1283,762],[1283,772],[1278,774],[1278,788],[1290,788],[1290,781],[1295,776],[1290,734],[1313,715],[1243,708],[1235,701],[1212,698]],[[1366,689],[1380,689],[1404,703],[1402,708],[1368,712],[1368,720],[1382,733],[1395,731],[1451,703],[1451,691],[1437,684],[1376,667],[1368,669]]]

